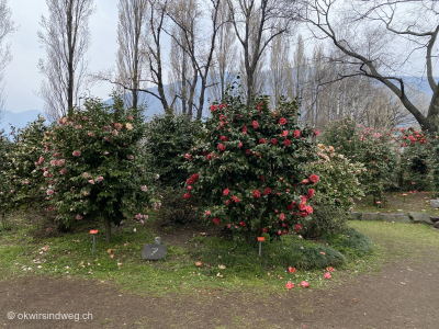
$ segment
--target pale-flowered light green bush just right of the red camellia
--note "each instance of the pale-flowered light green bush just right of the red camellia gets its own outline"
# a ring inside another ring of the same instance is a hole
[[[336,152],[333,146],[318,144],[316,152],[318,160],[309,166],[311,171],[320,175],[315,202],[348,211],[354,205],[354,198],[364,196],[360,181],[368,175],[368,170],[363,163]]]

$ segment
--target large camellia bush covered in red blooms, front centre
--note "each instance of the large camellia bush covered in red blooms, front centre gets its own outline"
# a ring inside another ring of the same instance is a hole
[[[214,104],[204,137],[184,155],[184,198],[204,201],[206,220],[226,225],[249,241],[305,229],[319,177],[307,170],[315,160],[312,128],[301,129],[297,104],[268,109],[267,100],[245,105],[229,97]]]

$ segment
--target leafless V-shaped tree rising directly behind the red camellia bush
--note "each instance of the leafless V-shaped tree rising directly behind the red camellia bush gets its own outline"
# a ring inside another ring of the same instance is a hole
[[[270,42],[285,33],[292,18],[279,18],[277,0],[227,0],[230,21],[243,46],[247,101],[256,94],[257,68]]]

